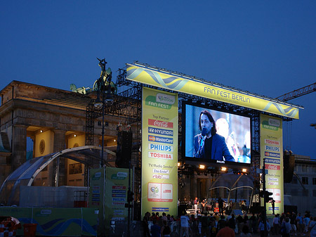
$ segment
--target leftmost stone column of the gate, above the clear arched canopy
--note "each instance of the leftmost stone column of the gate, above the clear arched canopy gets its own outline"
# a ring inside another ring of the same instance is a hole
[[[25,125],[13,125],[11,172],[20,167],[26,161],[27,127]]]

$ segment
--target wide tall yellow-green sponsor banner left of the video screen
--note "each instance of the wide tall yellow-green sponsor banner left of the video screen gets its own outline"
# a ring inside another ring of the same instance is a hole
[[[142,216],[177,215],[178,95],[143,87]]]

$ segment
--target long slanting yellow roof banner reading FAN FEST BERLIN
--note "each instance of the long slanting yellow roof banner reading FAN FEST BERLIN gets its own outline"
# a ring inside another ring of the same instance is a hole
[[[193,79],[150,70],[138,65],[126,65],[126,79],[131,81],[298,119],[298,108],[288,104],[246,93],[243,94],[232,89],[223,89],[201,81],[197,82]]]

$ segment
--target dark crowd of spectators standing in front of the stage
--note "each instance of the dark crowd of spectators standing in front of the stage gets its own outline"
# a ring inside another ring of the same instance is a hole
[[[265,231],[271,235],[316,237],[316,217],[311,217],[309,212],[303,216],[292,213],[275,214],[270,222],[263,221],[261,214],[191,214],[173,217],[170,214],[147,212],[143,217],[145,237],[251,237],[265,236]],[[265,227],[266,226],[266,227]]]

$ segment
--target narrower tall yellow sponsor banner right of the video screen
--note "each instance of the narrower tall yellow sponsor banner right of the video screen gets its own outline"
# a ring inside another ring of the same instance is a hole
[[[283,145],[282,120],[268,115],[261,115],[261,168],[265,159],[265,188],[273,193],[275,211],[284,212],[283,180]],[[263,201],[263,198],[261,198]],[[267,203],[267,214],[272,214],[272,207]]]

